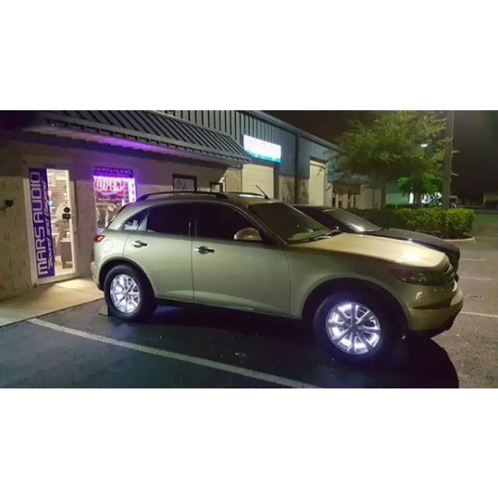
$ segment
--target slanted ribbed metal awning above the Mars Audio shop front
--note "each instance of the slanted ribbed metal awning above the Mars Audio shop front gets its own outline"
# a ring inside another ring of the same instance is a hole
[[[42,108],[23,130],[205,161],[251,162],[230,135],[145,108]]]

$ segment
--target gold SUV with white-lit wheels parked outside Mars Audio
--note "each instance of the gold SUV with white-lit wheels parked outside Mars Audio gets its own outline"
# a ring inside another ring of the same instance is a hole
[[[149,194],[95,236],[92,275],[110,314],[159,302],[303,320],[338,359],[379,360],[408,332],[452,327],[463,305],[444,253],[331,233],[258,194]]]

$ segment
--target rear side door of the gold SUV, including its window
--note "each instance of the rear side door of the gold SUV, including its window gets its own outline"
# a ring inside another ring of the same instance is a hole
[[[144,270],[157,297],[194,302],[192,229],[194,206],[170,203],[149,210],[129,235],[124,257]]]

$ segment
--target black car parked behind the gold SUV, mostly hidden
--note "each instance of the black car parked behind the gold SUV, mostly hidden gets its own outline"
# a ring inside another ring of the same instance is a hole
[[[307,205],[297,205],[294,207],[331,230],[375,235],[376,237],[396,238],[398,240],[410,240],[420,245],[425,245],[428,248],[439,250],[450,258],[450,262],[455,268],[455,271],[458,271],[460,265],[460,248],[457,248],[456,245],[447,242],[442,238],[434,237],[433,235],[425,235],[425,233],[400,230],[398,228],[381,228],[370,221],[364,220],[364,218],[356,216],[356,214],[338,208]]]

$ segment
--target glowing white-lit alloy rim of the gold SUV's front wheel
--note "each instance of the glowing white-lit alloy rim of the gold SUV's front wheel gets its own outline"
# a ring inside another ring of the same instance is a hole
[[[338,349],[358,356],[376,349],[381,341],[381,323],[364,304],[341,302],[327,315],[327,334]]]

